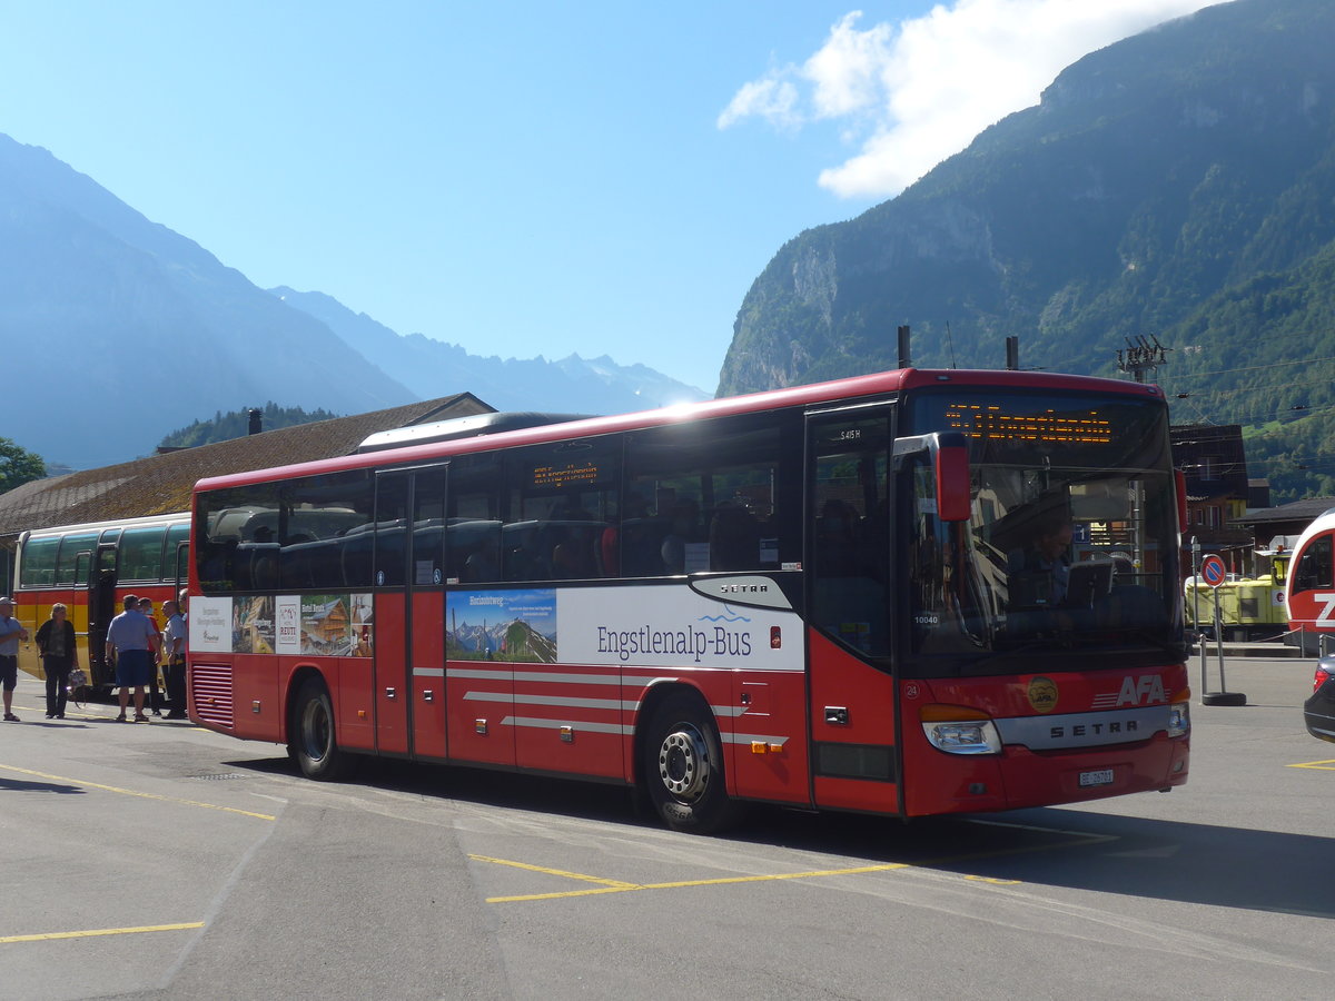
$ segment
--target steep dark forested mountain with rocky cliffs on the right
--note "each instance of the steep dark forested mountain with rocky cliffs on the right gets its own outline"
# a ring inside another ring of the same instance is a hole
[[[1335,408],[1303,368],[1335,360],[1332,49],[1330,0],[1236,0],[1085,56],[900,196],[789,240],[720,395],[896,367],[901,323],[922,367],[1000,368],[1015,335],[1021,367],[1117,375],[1153,336],[1175,420],[1255,426],[1264,466],[1288,448],[1266,415]]]

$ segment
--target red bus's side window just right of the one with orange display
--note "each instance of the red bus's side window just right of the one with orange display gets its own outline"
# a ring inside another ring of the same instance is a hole
[[[796,561],[785,498],[785,415],[725,418],[633,434],[618,539],[625,577],[778,570]],[[797,419],[797,415],[792,415]],[[800,460],[797,452],[789,463]],[[786,555],[785,555],[786,553]]]

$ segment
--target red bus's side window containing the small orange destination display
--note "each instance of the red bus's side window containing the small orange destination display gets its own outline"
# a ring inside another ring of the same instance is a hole
[[[506,581],[578,581],[605,575],[602,545],[617,511],[619,440],[567,440],[505,456]]]

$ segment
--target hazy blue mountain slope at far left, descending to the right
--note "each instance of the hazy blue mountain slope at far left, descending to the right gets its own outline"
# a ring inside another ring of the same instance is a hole
[[[414,399],[324,324],[4,135],[0,343],[21,366],[5,379],[5,432],[76,467],[266,399],[346,414]]]

